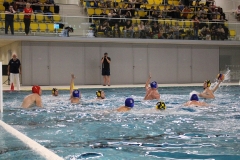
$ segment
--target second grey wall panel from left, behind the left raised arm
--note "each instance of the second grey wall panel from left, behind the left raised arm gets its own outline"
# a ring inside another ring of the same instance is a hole
[[[69,84],[71,73],[76,76],[75,84],[84,84],[85,61],[82,44],[52,42],[49,53],[51,85]]]

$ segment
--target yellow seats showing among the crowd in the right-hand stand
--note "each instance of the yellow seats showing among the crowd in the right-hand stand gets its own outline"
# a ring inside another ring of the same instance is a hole
[[[106,14],[108,14],[111,9],[119,10],[119,9],[121,9],[122,5],[126,7],[128,5],[128,3],[131,3],[131,2],[124,2],[122,0],[110,0],[111,8],[100,8],[100,7],[94,7],[94,3],[91,0],[90,1],[89,0],[81,0],[81,2],[83,4],[83,7],[86,8],[86,13],[90,17],[90,19],[92,16],[101,17],[100,14],[102,13],[102,11],[101,11],[102,9],[105,9]],[[109,2],[109,1],[107,1],[107,0],[101,1],[101,3],[106,3],[106,2]],[[117,2],[117,4],[115,2]],[[99,1],[98,6],[101,6],[101,3]],[[167,9],[170,8],[170,5],[178,6],[179,0],[169,0],[168,3],[169,4],[166,7]],[[204,10],[206,12],[208,11],[209,8],[206,6],[206,1],[200,1],[199,4],[202,6],[205,6]],[[195,14],[198,13],[201,6],[198,6],[196,1],[193,1],[192,5],[190,5],[192,12],[188,13],[187,19],[181,19],[181,18],[178,19],[178,18],[167,16],[164,18],[158,18],[158,20],[156,20],[156,19],[151,18],[151,16],[149,16],[149,13],[150,13],[149,11],[153,8],[154,8],[154,10],[156,10],[157,8],[160,8],[160,10],[163,10],[164,5],[162,4],[162,0],[148,0],[148,3],[142,3],[140,5],[140,9],[135,10],[135,14],[132,17],[133,30],[134,30],[135,34],[138,33],[137,26],[140,24],[140,21],[144,19],[145,21],[148,20],[151,25],[153,24],[153,21],[157,21],[158,23],[161,23],[162,25],[165,25],[166,23],[168,23],[168,24],[170,24],[171,27],[175,25],[175,22],[178,22],[179,29],[182,30],[182,33],[181,33],[182,36],[180,36],[180,37],[187,36],[185,31],[190,32],[191,30],[193,30],[193,26],[194,26],[193,17],[195,16]],[[218,8],[221,8],[221,7],[218,7]],[[182,14],[183,13],[181,13],[180,15],[182,16]],[[221,24],[225,27],[228,27],[228,22],[219,21],[220,13],[214,13],[214,14],[217,16],[218,20],[213,19],[213,21],[212,21],[213,23],[216,23],[217,25]],[[95,23],[97,26],[99,25],[99,21],[97,20],[97,18],[93,18],[92,20],[93,20],[92,22]],[[211,20],[209,22],[211,22]],[[210,28],[211,23],[209,23],[209,22],[201,21],[200,23],[205,23]],[[120,24],[120,30],[121,31],[123,30],[123,24]],[[100,35],[102,35],[102,32],[100,33]],[[235,35],[233,34],[233,36],[235,36]]]

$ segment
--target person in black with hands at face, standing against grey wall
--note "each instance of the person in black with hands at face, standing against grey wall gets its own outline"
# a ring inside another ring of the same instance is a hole
[[[111,58],[108,57],[108,53],[104,53],[104,57],[101,59],[102,63],[102,76],[103,76],[103,86],[110,86],[110,63]]]

